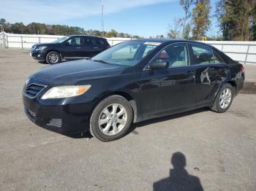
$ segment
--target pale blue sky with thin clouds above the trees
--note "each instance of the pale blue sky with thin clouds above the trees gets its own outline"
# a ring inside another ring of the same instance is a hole
[[[211,1],[211,15],[215,1]],[[10,23],[37,22],[101,30],[102,0],[0,0],[0,4],[0,17]],[[166,35],[174,17],[184,15],[178,0],[104,0],[103,4],[106,31],[114,28],[144,37]],[[214,18],[209,34],[217,34]]]

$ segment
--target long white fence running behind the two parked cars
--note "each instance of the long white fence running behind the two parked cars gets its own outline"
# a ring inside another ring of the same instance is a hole
[[[31,34],[7,34],[0,33],[0,46],[20,49],[29,49],[33,44],[53,42],[62,36],[56,35],[31,35]],[[111,46],[129,40],[129,38],[107,38]],[[240,63],[256,64],[256,42],[205,42],[222,50],[230,58]],[[1,50],[0,50],[1,51]]]

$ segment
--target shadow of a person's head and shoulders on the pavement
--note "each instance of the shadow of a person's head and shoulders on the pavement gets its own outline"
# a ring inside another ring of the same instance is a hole
[[[187,173],[186,157],[181,152],[174,153],[170,162],[173,165],[170,176],[154,182],[154,191],[203,191],[200,179]]]

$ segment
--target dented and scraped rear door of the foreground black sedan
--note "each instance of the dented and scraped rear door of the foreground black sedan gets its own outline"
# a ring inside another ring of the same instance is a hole
[[[208,104],[227,77],[227,64],[207,45],[190,43],[189,50],[195,66],[195,104]]]

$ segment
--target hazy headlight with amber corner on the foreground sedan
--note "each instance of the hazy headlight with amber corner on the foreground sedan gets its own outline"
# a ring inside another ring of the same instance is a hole
[[[83,93],[86,93],[90,87],[91,85],[52,87],[44,95],[42,95],[42,99],[70,98],[82,95]]]

